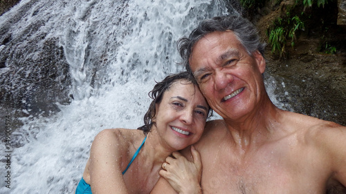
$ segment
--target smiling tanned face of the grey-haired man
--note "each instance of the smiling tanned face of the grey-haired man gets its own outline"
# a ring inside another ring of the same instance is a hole
[[[259,107],[264,58],[258,51],[248,55],[233,32],[212,32],[197,41],[190,68],[210,107],[224,119],[240,119]]]

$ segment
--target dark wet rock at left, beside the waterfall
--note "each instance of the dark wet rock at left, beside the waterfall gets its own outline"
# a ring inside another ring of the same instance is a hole
[[[10,30],[33,2],[0,26],[0,116],[13,111],[17,116],[49,115],[59,110],[56,103],[71,101],[69,64],[59,39],[46,39],[39,31],[43,21],[23,26],[20,34]]]

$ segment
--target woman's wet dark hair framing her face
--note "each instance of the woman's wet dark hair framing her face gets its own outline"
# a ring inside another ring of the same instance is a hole
[[[188,84],[194,84],[194,86],[198,87],[198,84],[196,80],[194,79],[194,77],[192,77],[192,75],[186,71],[179,72],[173,75],[168,75],[162,81],[156,82],[156,85],[154,86],[154,88],[148,93],[149,97],[153,100],[149,106],[149,109],[147,110],[147,113],[145,113],[144,115],[144,125],[138,128],[139,130],[143,130],[143,133],[145,135],[149,133],[150,129],[152,128],[152,125],[155,124],[155,122],[153,122],[152,120],[153,117],[156,115],[155,105],[160,104],[165,91],[169,90],[172,84],[174,84],[176,81],[179,81],[179,80],[188,81]],[[211,108],[209,108],[208,117],[211,116],[211,113],[212,113]]]

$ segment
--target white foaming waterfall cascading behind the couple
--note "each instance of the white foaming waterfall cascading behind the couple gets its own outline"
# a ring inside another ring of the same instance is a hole
[[[51,117],[21,118],[24,126],[12,133],[22,146],[12,152],[11,188],[2,182],[0,193],[74,193],[95,135],[143,125],[154,80],[183,70],[176,41],[202,19],[228,13],[217,0],[27,0],[1,20],[27,3],[33,6],[11,26],[12,36],[42,21],[42,43],[60,39],[74,100]]]

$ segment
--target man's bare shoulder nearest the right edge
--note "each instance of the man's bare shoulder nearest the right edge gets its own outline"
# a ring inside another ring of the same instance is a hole
[[[292,114],[291,125],[295,128],[295,137],[300,142],[301,150],[315,153],[320,162],[325,161],[325,168],[340,171],[346,160],[346,127],[334,122],[325,121],[315,117]],[[343,184],[346,185],[346,170],[343,173]],[[337,179],[337,180],[340,180]]]

